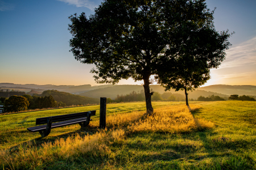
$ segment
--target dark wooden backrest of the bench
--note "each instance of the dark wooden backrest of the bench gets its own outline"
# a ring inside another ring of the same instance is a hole
[[[89,112],[90,112],[90,116],[96,115],[96,111],[89,111]],[[72,120],[75,118],[86,117],[87,113],[88,112],[80,112],[80,113],[52,116],[52,122],[60,122],[65,120]],[[47,124],[47,117],[36,118],[36,125],[41,125],[41,124]]]

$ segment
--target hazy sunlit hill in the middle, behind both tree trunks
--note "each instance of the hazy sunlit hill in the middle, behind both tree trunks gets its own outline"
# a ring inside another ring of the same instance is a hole
[[[151,85],[150,88],[152,88],[152,90],[155,92],[159,92],[160,94],[163,94],[165,92],[164,87],[160,85]],[[127,94],[130,94],[130,92],[132,91],[140,92],[141,90],[144,91],[144,88],[143,86],[139,86],[139,85],[115,85],[112,87],[105,87],[105,88],[100,88],[96,90],[91,90],[88,92],[81,93],[79,95],[95,97],[95,98],[110,97],[111,99],[115,99],[117,95],[127,95]],[[175,90],[171,90],[170,92],[172,92],[172,94],[181,94],[185,96],[184,91],[175,92]],[[196,90],[193,92],[189,91],[188,94],[189,94],[188,95],[189,99],[197,99],[199,96],[208,97],[209,95],[225,97],[226,99],[227,97],[229,97],[228,95],[218,94],[216,92],[207,92],[204,90]]]

